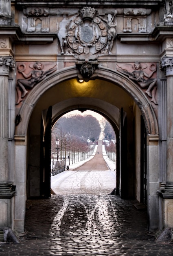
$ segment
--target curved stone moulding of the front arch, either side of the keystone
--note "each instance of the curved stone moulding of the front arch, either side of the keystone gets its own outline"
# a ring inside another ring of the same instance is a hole
[[[61,83],[64,80],[68,81],[68,79],[74,78],[77,78],[77,71],[75,66],[65,68],[64,70],[60,70],[59,72],[54,73],[52,76],[50,76],[49,79],[42,81],[35,88],[33,88],[33,90],[24,101],[19,112],[20,116],[22,117],[22,122],[18,125],[15,131],[15,135],[26,135],[28,121],[31,117],[31,113],[33,112],[35,104],[47,90],[55,86],[57,83]],[[127,79],[127,77],[123,74],[110,70],[106,67],[99,67],[97,72],[92,76],[92,79],[96,78],[112,82],[130,94],[130,96],[134,99],[140,108],[140,111],[145,119],[147,133],[158,135],[158,123],[153,108],[151,107],[147,97],[144,96],[140,88],[137,87],[134,82],[132,82],[130,79]],[[25,113],[27,113],[27,115],[25,115]]]

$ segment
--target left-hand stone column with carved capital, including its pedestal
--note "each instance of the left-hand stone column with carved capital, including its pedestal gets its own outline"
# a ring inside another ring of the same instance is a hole
[[[0,229],[11,226],[11,198],[15,193],[15,186],[9,182],[8,168],[9,70],[13,68],[11,56],[0,56]]]

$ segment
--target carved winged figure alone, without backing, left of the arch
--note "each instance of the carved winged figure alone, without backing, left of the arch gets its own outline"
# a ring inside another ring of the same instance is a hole
[[[23,67],[23,68],[21,68]],[[31,66],[29,66],[31,67]],[[42,81],[46,76],[53,73],[55,70],[57,70],[57,67],[54,66],[53,68],[50,68],[47,71],[43,71],[44,65],[37,61],[34,63],[33,67],[31,67],[33,70],[26,74],[24,71],[26,70],[26,66],[24,63],[18,65],[18,72],[21,73],[24,78],[26,79],[18,79],[17,85],[16,85],[16,91],[18,94],[18,100],[16,102],[16,105],[18,105],[21,101],[23,101],[23,98],[26,96],[28,89],[32,89],[37,83]],[[27,78],[30,78],[27,80]]]

